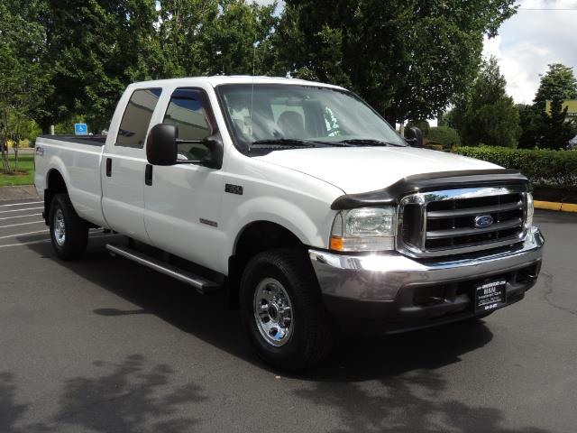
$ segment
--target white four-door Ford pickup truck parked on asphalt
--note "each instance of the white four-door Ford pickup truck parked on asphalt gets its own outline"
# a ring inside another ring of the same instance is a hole
[[[258,354],[298,370],[340,329],[481,318],[536,282],[527,179],[410,133],[326,84],[142,82],[107,136],[39,138],[35,183],[60,258],[80,258],[90,228],[124,235],[106,247],[228,290]]]

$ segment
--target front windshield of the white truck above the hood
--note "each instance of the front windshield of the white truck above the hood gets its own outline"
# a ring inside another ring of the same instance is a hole
[[[254,88],[254,90],[253,90]],[[286,84],[218,87],[234,141],[253,144],[406,145],[385,120],[352,93]],[[254,147],[254,146],[253,146]]]

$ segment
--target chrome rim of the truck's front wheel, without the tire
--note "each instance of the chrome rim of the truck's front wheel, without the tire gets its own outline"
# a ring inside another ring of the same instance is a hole
[[[286,345],[294,327],[289,293],[274,278],[265,278],[254,291],[254,319],[270,345]]]

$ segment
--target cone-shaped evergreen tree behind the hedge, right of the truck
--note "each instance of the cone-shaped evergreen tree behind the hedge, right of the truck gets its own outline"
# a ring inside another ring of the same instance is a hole
[[[467,145],[517,147],[519,113],[505,91],[497,60],[483,61],[471,93],[454,109],[454,122]]]

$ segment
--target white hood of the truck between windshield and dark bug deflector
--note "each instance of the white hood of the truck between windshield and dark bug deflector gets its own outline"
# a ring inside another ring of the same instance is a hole
[[[325,180],[346,194],[383,189],[407,176],[500,168],[454,153],[412,147],[325,147],[270,152],[256,157]]]

